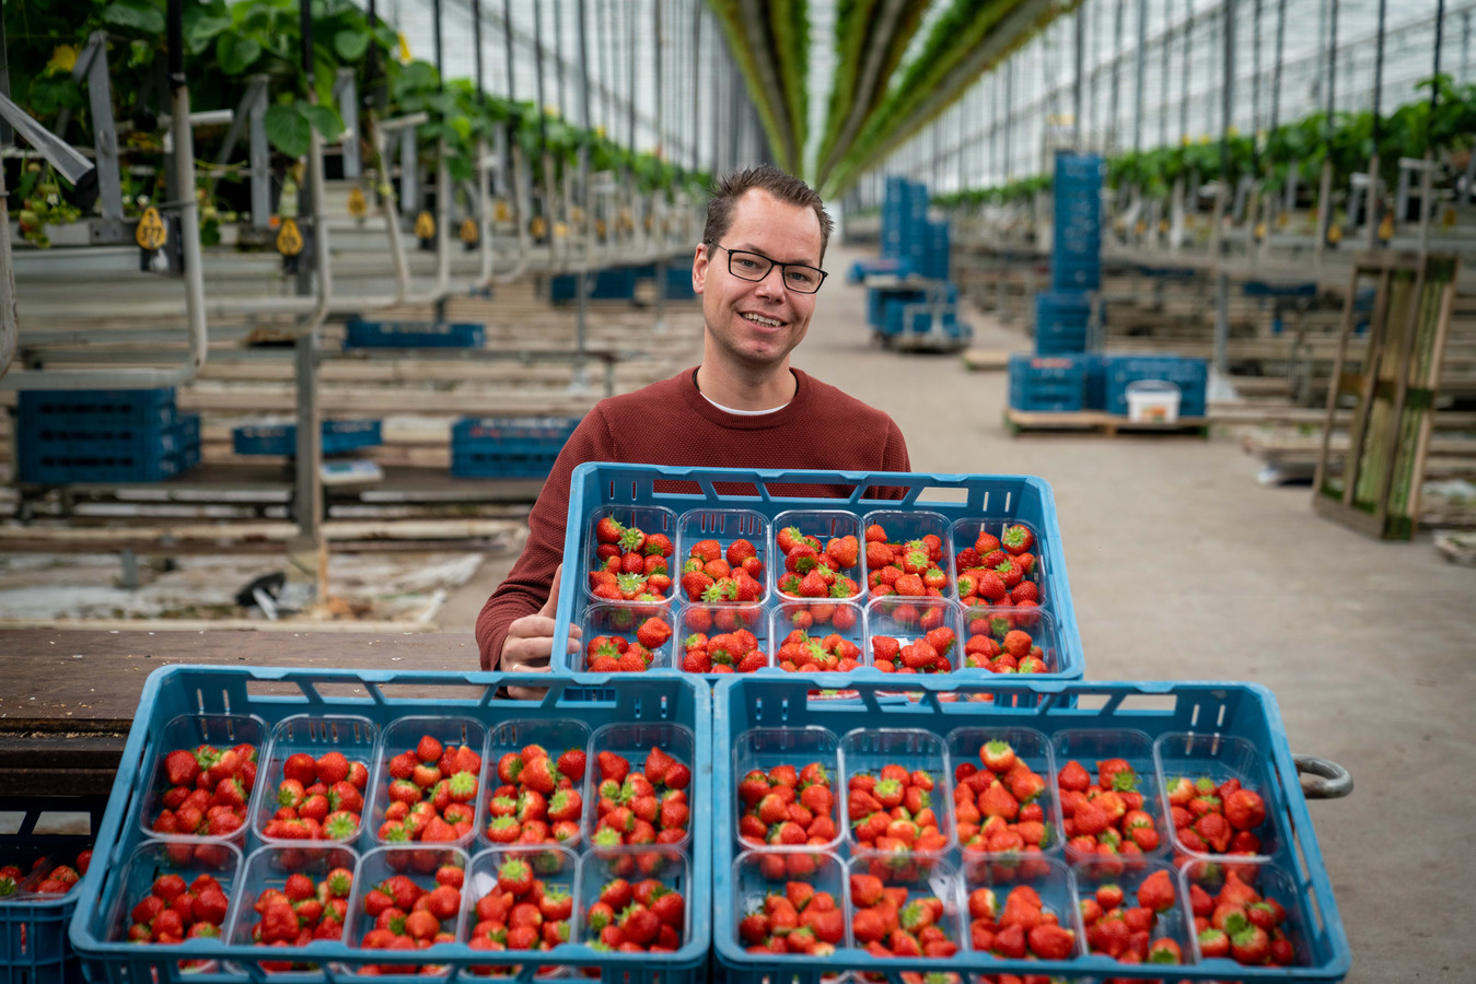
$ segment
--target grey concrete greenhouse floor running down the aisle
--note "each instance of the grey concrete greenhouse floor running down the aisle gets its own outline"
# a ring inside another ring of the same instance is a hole
[[[832,251],[844,270],[861,254]],[[1027,351],[973,317],[976,345]],[[1376,543],[1312,513],[1305,487],[1256,484],[1225,435],[1024,435],[1001,425],[1005,375],[868,344],[865,291],[834,276],[794,364],[887,410],[915,471],[1051,482],[1094,680],[1250,680],[1271,687],[1294,752],[1348,767],[1312,803],[1352,944],[1355,984],[1476,981],[1476,569],[1429,536]],[[468,631],[511,561],[440,612]]]

